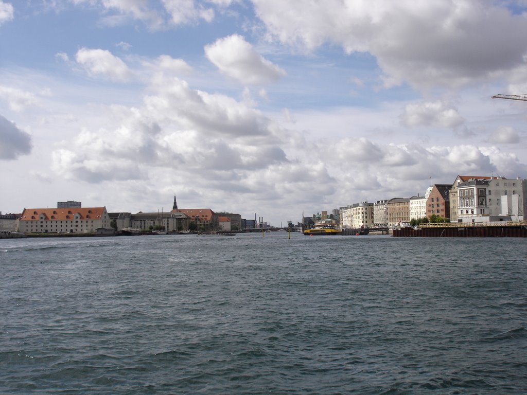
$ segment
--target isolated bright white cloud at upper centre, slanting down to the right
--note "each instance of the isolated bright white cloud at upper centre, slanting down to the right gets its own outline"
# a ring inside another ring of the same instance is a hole
[[[207,45],[205,55],[222,73],[243,84],[267,84],[286,75],[284,70],[259,55],[237,34]]]

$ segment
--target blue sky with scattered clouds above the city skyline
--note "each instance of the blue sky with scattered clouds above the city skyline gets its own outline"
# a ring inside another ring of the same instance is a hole
[[[526,0],[0,0],[0,211],[274,226],[527,178]]]

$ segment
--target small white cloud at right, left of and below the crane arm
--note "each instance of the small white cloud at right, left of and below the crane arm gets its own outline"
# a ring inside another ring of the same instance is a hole
[[[407,127],[439,126],[453,128],[464,122],[456,108],[442,101],[407,104],[400,118],[401,124]]]

